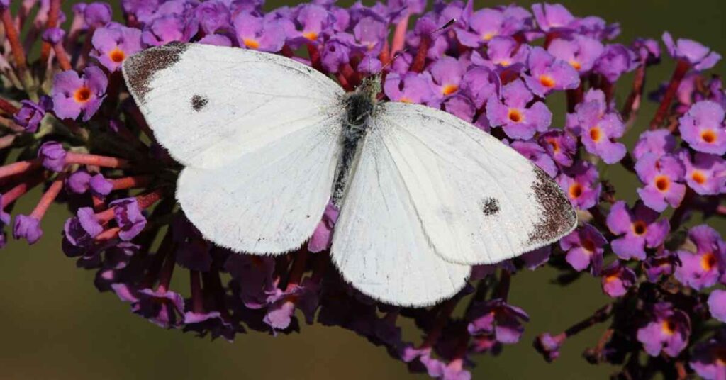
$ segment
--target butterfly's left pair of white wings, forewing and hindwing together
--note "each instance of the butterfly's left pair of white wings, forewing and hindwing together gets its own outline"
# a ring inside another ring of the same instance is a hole
[[[209,240],[277,254],[301,246],[330,199],[343,90],[274,54],[171,44],[129,57],[129,90],[186,168],[176,198]]]

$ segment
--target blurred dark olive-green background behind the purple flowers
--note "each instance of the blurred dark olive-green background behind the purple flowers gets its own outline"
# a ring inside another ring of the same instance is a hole
[[[65,1],[70,9],[75,1]],[[532,1],[519,4],[529,7]],[[674,37],[701,41],[726,52],[726,1],[723,0],[611,0],[562,1],[575,15],[597,15],[621,23],[618,41],[637,36],[659,39],[663,31]],[[267,9],[293,1],[269,1]],[[370,5],[370,1],[365,4]],[[476,7],[506,4],[477,1]],[[118,4],[115,4],[118,12]],[[68,12],[70,15],[70,12]],[[669,60],[648,71],[648,90],[669,77]],[[716,73],[724,73],[719,63]],[[627,94],[630,77],[621,80],[619,101]],[[554,104],[552,105],[555,106]],[[649,103],[636,126],[640,131],[653,115]],[[563,114],[561,108],[555,114]],[[632,147],[631,132],[626,140]],[[608,177],[620,196],[635,199],[635,177],[614,169]],[[37,194],[23,198],[15,212],[28,212]],[[67,211],[54,206],[44,219],[46,236],[35,246],[11,242],[0,253],[0,379],[401,379],[406,366],[392,360],[354,333],[340,328],[302,326],[301,333],[272,337],[264,333],[224,340],[197,339],[180,331],[166,331],[132,315],[129,304],[113,294],[100,294],[93,272],[75,267],[60,251],[60,231]],[[714,225],[722,232],[721,222]],[[603,378],[614,368],[592,366],[581,357],[595,344],[604,326],[595,326],[566,341],[561,357],[547,364],[531,347],[537,333],[559,332],[600,307],[607,298],[590,276],[567,288],[550,281],[555,272],[544,269],[515,275],[510,302],[531,316],[520,344],[505,347],[502,355],[476,357],[476,379]],[[177,276],[180,277],[180,276]]]

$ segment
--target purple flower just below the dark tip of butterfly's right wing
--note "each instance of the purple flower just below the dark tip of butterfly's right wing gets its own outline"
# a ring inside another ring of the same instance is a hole
[[[565,259],[574,270],[580,272],[590,267],[590,272],[598,275],[603,269],[603,247],[607,243],[608,240],[597,228],[585,223],[562,238],[560,248],[567,252]]]

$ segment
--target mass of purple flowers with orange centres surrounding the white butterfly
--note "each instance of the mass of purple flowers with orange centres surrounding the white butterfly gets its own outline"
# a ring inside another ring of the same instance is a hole
[[[4,4],[3,20],[14,20]],[[473,357],[521,340],[530,315],[507,302],[510,282],[518,271],[550,264],[563,272],[563,285],[579,275],[597,278],[611,301],[592,315],[579,310],[584,319],[565,331],[539,335],[534,345],[546,360],[560,355],[568,337],[609,323],[585,357],[625,363],[619,377],[726,377],[726,329],[717,326],[726,321],[726,243],[714,228],[726,215],[726,92],[703,73],[719,62],[717,52],[664,34],[677,65],[653,93],[658,110],[643,130],[637,114],[661,46],[614,43],[619,26],[600,17],[578,17],[560,4],[474,9],[461,0],[437,1],[431,10],[423,0],[263,5],[123,0],[122,24],[112,21],[109,4],[79,3],[62,29],[60,0],[49,0],[33,25],[23,28],[27,17],[4,23],[9,49],[0,75],[17,90],[6,94],[25,96],[0,97],[0,149],[23,152],[2,155],[2,230],[36,243],[44,214],[62,201],[73,214],[63,230],[65,254],[94,270],[99,291],[158,326],[231,341],[248,330],[300,331],[302,316],[354,331],[411,371],[442,379],[469,379]],[[25,29],[42,44],[34,62],[18,41]],[[282,54],[347,91],[383,72],[383,100],[452,113],[536,163],[568,195],[579,227],[552,246],[474,267],[460,294],[425,309],[375,302],[340,278],[327,255],[333,206],[293,253],[216,247],[176,207],[180,166],[155,142],[121,77],[127,57],[172,41]],[[623,77],[629,72],[632,82]],[[630,90],[623,104],[618,86]],[[557,94],[566,109],[552,108]],[[564,125],[553,124],[555,113]],[[639,134],[630,150],[626,134]],[[615,188],[627,185],[608,177],[613,165],[633,174],[631,189]],[[4,211],[43,185],[32,210]],[[621,198],[627,193],[637,201]],[[189,276],[187,291],[171,288],[180,275]],[[401,326],[412,325],[405,320],[415,321],[421,341],[404,338]]]

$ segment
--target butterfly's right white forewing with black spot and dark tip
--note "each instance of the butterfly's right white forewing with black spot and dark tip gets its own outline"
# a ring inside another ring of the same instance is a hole
[[[436,253],[490,264],[571,232],[576,214],[534,163],[440,110],[388,102],[375,116],[383,145]]]

